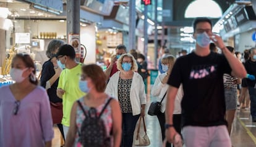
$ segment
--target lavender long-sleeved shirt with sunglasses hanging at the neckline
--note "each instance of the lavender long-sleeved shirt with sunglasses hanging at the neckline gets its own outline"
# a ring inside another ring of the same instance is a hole
[[[17,115],[9,85],[0,88],[0,146],[45,146],[53,135],[53,120],[45,89],[37,86],[20,101]]]

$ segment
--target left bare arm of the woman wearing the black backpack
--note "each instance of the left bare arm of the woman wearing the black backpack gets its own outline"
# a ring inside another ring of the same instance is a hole
[[[75,102],[72,106],[71,113],[70,113],[70,125],[69,125],[69,132],[67,132],[66,137],[66,147],[72,147],[75,143],[75,133],[77,133],[77,125],[75,123],[76,114],[77,114],[77,102]]]

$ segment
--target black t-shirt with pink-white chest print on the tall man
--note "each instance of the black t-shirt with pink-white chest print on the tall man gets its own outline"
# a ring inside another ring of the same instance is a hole
[[[177,59],[168,84],[179,88],[182,83],[183,127],[226,125],[223,73],[231,73],[231,67],[222,54],[200,57],[192,52]]]

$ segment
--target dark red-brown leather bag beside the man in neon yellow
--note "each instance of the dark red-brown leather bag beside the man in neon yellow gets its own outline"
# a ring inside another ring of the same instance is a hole
[[[51,104],[51,117],[53,118],[53,124],[61,124],[62,120],[62,103],[53,103]]]

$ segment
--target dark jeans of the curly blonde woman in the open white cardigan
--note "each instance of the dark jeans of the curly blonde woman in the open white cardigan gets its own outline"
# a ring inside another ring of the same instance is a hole
[[[122,147],[132,147],[134,141],[134,130],[139,115],[132,115],[132,113],[122,113]]]

